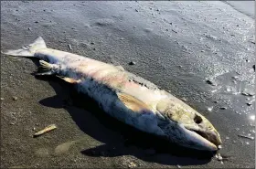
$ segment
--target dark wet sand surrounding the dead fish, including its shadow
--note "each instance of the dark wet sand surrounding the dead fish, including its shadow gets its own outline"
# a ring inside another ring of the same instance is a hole
[[[222,2],[1,2],[2,49],[42,36],[121,65],[185,100],[223,140],[221,164],[113,120],[59,79],[35,78],[35,59],[1,55],[1,167],[254,168],[255,141],[239,136],[255,136],[254,30]],[[51,123],[58,129],[33,138]]]

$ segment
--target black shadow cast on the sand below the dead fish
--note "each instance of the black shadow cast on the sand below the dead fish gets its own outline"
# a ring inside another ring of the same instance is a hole
[[[95,101],[79,94],[72,84],[61,79],[51,76],[36,76],[36,78],[47,80],[57,94],[54,97],[40,100],[40,104],[57,109],[64,108],[81,131],[105,143],[91,149],[81,150],[80,153],[84,155],[107,157],[133,155],[147,162],[169,165],[207,164],[214,155],[214,153],[191,150],[168,143],[117,121],[101,111]]]

